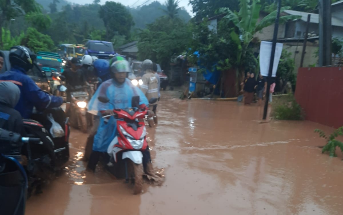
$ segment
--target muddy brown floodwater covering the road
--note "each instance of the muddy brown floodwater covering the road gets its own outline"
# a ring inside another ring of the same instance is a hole
[[[98,168],[84,172],[86,136],[73,130],[64,174],[31,197],[26,215],[341,215],[343,164],[321,154],[309,121],[259,123],[261,108],[233,101],[179,100],[163,92],[148,129],[162,187],[132,195]]]

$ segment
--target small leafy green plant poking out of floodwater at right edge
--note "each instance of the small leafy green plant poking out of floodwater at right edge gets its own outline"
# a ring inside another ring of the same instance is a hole
[[[328,143],[323,147],[322,153],[329,152],[330,157],[336,157],[336,147],[341,148],[341,152],[343,152],[343,142],[336,140],[338,136],[343,136],[343,126],[339,129],[336,129],[330,136],[326,136],[324,131],[320,129],[316,129],[315,133],[319,133],[321,138],[325,138]]]

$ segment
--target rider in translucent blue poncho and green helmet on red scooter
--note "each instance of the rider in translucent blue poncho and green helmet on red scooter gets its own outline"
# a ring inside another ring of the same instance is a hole
[[[103,82],[99,86],[88,104],[88,112],[100,117],[100,123],[94,136],[93,150],[87,165],[87,169],[90,171],[95,171],[100,156],[105,159],[105,163],[108,163],[109,155],[107,154],[107,148],[117,135],[116,119],[113,116],[109,119],[104,119],[101,116],[113,113],[113,109],[131,107],[133,96],[140,97],[140,108],[147,109],[147,106],[149,105],[143,92],[126,78],[130,71],[131,67],[128,61],[114,61],[110,66],[111,79]],[[99,96],[106,96],[109,98],[109,103],[100,102],[98,100]],[[152,111],[149,111],[149,115],[153,115]],[[146,174],[155,175],[151,163],[149,147],[143,152],[143,166]]]

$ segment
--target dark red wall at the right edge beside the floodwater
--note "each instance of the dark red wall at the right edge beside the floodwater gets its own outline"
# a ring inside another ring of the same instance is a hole
[[[343,68],[299,68],[295,98],[307,120],[343,126]]]

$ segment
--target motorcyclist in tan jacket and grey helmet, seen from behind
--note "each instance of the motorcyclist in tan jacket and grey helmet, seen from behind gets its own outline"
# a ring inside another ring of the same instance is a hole
[[[144,60],[142,63],[142,69],[145,74],[142,76],[143,84],[141,85],[141,89],[148,100],[151,98],[158,98],[158,80],[153,72],[153,62],[149,59]],[[155,104],[150,104],[149,109],[153,111]],[[154,127],[154,118],[149,117],[148,123],[150,127]]]

